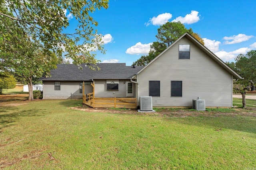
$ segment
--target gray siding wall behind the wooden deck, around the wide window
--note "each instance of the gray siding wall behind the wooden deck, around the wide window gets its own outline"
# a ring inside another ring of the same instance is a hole
[[[126,81],[129,80],[119,80],[118,90],[107,90],[106,80],[94,80],[95,85],[95,97],[104,98],[125,98],[126,97]]]

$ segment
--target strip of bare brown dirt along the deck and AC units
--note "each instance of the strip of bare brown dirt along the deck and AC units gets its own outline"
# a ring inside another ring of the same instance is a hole
[[[232,109],[209,109],[206,111],[195,111],[193,109],[165,109],[161,108],[156,112],[138,112],[134,109],[109,109],[109,108],[90,108],[88,106],[70,107],[70,109],[86,111],[86,112],[102,112],[102,113],[120,113],[133,115],[152,115],[157,117],[188,117],[188,116],[220,116],[220,115],[247,115],[256,116],[256,107],[232,108]]]

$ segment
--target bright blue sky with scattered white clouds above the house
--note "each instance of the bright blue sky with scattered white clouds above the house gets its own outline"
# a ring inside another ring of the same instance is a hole
[[[66,16],[72,24],[72,14]],[[256,50],[256,0],[110,0],[108,9],[91,16],[103,35],[106,53],[96,51],[102,63],[132,65],[148,54],[157,29],[168,21],[192,28],[224,62]]]

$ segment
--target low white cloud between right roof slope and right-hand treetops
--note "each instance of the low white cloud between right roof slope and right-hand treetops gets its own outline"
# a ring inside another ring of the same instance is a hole
[[[246,54],[250,50],[251,50],[250,48],[244,47],[231,52],[218,51],[215,53],[215,55],[225,62],[225,61],[233,60],[234,58],[236,58],[238,54]]]

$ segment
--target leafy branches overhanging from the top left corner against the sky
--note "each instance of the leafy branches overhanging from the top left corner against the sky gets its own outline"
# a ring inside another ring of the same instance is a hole
[[[3,0],[0,1],[1,37],[9,39],[5,43],[11,46],[13,35],[2,31],[3,27],[9,32],[21,27],[30,39],[39,41],[57,57],[65,55],[74,64],[96,63],[91,51],[98,49],[104,53],[104,49],[102,35],[94,29],[98,23],[90,14],[101,8],[108,8],[108,0]],[[78,21],[72,33],[65,33],[69,26],[67,12]],[[7,19],[13,20],[14,25],[6,25]]]

